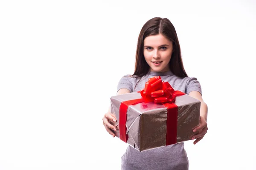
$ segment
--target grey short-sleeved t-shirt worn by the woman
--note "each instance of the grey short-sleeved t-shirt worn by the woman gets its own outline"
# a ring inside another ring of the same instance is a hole
[[[126,75],[120,79],[117,91],[121,88],[127,88],[130,92],[140,91],[145,87],[145,82],[154,76],[160,76],[162,81],[169,82],[175,90],[186,94],[198,91],[202,94],[201,85],[195,77],[180,78],[171,71],[151,71],[141,79]],[[128,146],[121,160],[122,170],[188,170],[189,168],[183,142],[143,152]]]

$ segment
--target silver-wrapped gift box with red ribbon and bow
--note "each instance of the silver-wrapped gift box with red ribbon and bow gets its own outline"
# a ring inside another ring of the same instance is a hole
[[[153,77],[142,91],[111,97],[113,131],[139,151],[191,140],[199,125],[201,101]]]

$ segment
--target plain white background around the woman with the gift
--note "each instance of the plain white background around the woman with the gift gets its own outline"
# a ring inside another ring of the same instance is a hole
[[[0,170],[120,169],[102,117],[133,74],[144,23],[167,17],[198,78],[208,133],[190,170],[255,170],[256,2],[0,1]]]

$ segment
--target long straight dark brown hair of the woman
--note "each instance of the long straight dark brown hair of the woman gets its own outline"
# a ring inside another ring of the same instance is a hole
[[[145,60],[143,50],[144,50],[144,40],[150,35],[163,34],[168,40],[173,42],[173,53],[171,60],[169,62],[169,68],[173,74],[178,77],[188,77],[186,71],[183,67],[183,62],[180,53],[180,43],[177,37],[174,26],[167,18],[155,17],[148,20],[140,31],[140,35],[137,43],[136,50],[136,62],[135,71],[132,76],[143,77],[146,75],[150,67]]]

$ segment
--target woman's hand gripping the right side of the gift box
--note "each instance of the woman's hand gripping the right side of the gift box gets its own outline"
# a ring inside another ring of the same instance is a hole
[[[208,127],[206,119],[203,116],[200,116],[200,124],[198,127],[194,127],[193,132],[195,133],[194,136],[192,136],[192,139],[196,139],[194,141],[194,144],[199,142],[201,139],[204,138],[204,135],[207,133]]]

